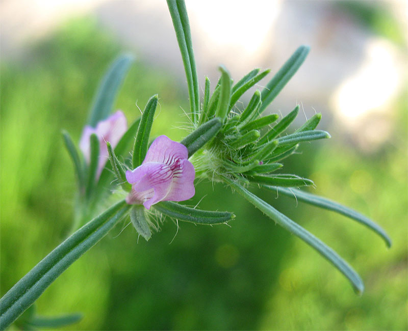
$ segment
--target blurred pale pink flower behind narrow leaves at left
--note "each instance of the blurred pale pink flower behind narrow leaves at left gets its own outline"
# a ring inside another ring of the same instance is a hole
[[[117,111],[115,114],[109,116],[106,120],[98,122],[96,128],[93,128],[89,125],[85,126],[80,141],[80,149],[84,154],[85,160],[88,164],[91,155],[91,147],[89,141],[90,136],[92,133],[95,133],[99,139],[99,161],[98,169],[96,172],[96,179],[99,178],[100,173],[105,168],[105,163],[109,157],[106,142],[110,142],[112,147],[115,148],[126,130],[126,118],[121,111]]]

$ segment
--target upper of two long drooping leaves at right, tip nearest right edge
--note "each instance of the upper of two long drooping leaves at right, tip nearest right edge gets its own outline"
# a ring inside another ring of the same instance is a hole
[[[282,193],[283,195],[288,196],[290,198],[297,199],[298,201],[303,201],[305,203],[314,205],[316,207],[335,211],[346,217],[354,219],[357,222],[365,225],[366,227],[376,232],[379,236],[382,237],[382,239],[384,239],[387,246],[391,247],[391,244],[392,244],[391,239],[384,229],[382,229],[378,224],[374,223],[370,218],[360,214],[359,212],[351,208],[342,206],[341,204],[331,201],[329,199],[319,197],[319,196],[316,196],[308,192],[303,192],[299,189],[286,189],[286,188],[274,187],[274,186],[264,186],[264,187],[270,190],[273,190],[273,191],[277,190],[279,193]]]

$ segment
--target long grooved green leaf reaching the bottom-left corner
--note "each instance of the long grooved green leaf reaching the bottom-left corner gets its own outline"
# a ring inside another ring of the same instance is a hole
[[[102,239],[130,207],[124,200],[113,205],[75,231],[19,280],[0,299],[0,329],[5,329],[29,308],[62,272]]]

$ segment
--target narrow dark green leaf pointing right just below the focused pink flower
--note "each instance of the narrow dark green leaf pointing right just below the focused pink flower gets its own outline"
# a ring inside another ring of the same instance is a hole
[[[153,207],[167,216],[196,224],[222,224],[235,218],[233,213],[227,211],[199,210],[171,201],[162,201]]]

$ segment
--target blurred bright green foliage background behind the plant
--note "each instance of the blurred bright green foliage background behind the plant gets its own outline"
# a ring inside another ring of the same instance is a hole
[[[2,61],[1,295],[68,234],[75,179],[60,132],[79,141],[98,80],[122,50],[87,17],[33,44],[18,61]],[[132,122],[140,116],[136,101],[143,108],[159,93],[152,134],[179,140],[188,99],[174,81],[136,61],[116,108]],[[231,228],[180,223],[175,236],[167,221],[147,243],[137,242],[131,226],[121,232],[126,220],[44,292],[38,313],[84,313],[66,329],[407,329],[406,97],[392,105],[392,140],[374,152],[362,153],[333,123],[320,126],[333,139],[303,146],[285,162],[310,176],[317,194],[375,219],[393,239],[390,250],[349,219],[259,192],[361,274],[362,296],[230,189],[202,182],[191,203],[205,197],[203,209],[234,211]]]

